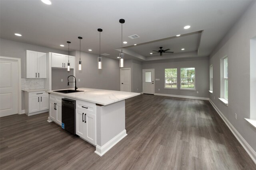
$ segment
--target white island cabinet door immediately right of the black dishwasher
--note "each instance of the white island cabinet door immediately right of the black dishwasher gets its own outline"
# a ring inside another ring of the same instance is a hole
[[[84,112],[76,109],[76,135],[85,138]]]

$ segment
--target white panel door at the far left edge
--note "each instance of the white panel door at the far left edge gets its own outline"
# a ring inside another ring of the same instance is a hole
[[[0,117],[18,114],[18,61],[0,58]]]

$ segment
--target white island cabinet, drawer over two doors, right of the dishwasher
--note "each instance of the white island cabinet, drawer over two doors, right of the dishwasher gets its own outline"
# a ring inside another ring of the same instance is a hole
[[[76,100],[76,135],[96,145],[96,104]]]

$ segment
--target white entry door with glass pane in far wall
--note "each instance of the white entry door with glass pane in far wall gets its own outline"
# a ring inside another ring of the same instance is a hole
[[[154,94],[155,93],[155,70],[154,69],[143,69],[142,70],[142,90],[145,94]]]

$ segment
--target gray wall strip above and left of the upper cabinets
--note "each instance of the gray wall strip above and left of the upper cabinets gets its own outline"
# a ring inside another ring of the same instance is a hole
[[[66,51],[60,51],[56,49],[50,49],[41,47],[38,45],[32,45],[27,43],[20,43],[17,41],[11,41],[8,39],[0,39],[0,55],[5,57],[16,57],[21,59],[21,78],[25,76],[25,55],[26,50],[39,51],[42,53],[60,53],[68,54]]]

